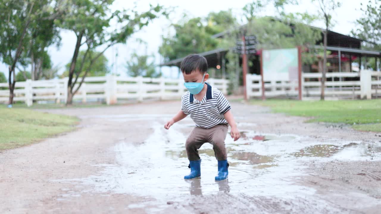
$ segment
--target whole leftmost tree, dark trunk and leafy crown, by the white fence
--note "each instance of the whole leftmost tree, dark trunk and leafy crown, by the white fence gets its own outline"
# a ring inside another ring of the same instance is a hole
[[[8,67],[9,104],[13,103],[15,68],[25,65],[31,32],[36,22],[54,20],[65,10],[65,0],[3,0],[0,3],[0,57]],[[24,52],[24,54],[23,54]]]

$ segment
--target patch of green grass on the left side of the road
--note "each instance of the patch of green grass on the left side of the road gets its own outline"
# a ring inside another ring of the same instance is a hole
[[[1,105],[0,150],[29,145],[55,134],[72,131],[78,121],[76,117],[21,108],[8,109]]]

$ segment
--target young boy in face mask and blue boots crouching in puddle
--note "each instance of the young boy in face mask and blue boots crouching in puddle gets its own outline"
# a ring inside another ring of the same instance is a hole
[[[229,164],[224,141],[229,125],[234,141],[240,137],[229,102],[221,91],[205,83],[209,78],[207,69],[207,60],[199,54],[188,55],[181,62],[184,85],[188,91],[181,97],[181,110],[164,126],[165,129],[169,129],[189,114],[196,123],[196,127],[185,143],[191,174],[184,176],[184,179],[201,176],[201,159],[198,149],[206,142],[213,145],[218,160],[218,174],[215,179],[226,179]]]

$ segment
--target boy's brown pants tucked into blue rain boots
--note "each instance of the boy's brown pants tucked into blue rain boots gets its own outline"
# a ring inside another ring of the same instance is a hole
[[[200,160],[198,149],[204,143],[209,142],[213,145],[217,160],[227,160],[225,138],[228,127],[228,124],[219,124],[211,128],[195,127],[185,142],[188,159],[190,161]]]

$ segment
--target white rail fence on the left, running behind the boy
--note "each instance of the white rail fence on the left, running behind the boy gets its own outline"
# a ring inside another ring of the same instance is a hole
[[[228,80],[208,79],[207,83],[227,93]],[[24,101],[28,106],[33,101],[65,102],[67,100],[68,78],[53,80],[27,80],[16,82],[14,101]],[[75,86],[77,88],[77,85]],[[186,91],[183,79],[146,77],[86,77],[74,95],[74,100],[106,100],[115,104],[118,99],[176,99]],[[0,102],[8,102],[8,83],[0,83]]]

